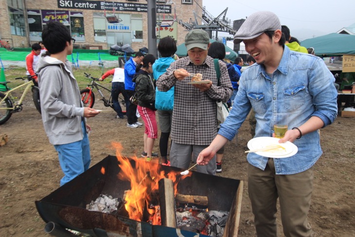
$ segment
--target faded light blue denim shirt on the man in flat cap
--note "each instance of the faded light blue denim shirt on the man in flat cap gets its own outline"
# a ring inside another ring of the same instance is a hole
[[[263,65],[254,64],[242,73],[233,108],[218,134],[232,140],[251,107],[257,120],[255,137],[272,137],[276,113],[289,113],[288,129],[300,127],[311,116],[319,117],[324,127],[337,116],[337,90],[334,76],[323,60],[314,55],[284,53],[277,70],[269,76]],[[288,158],[274,158],[278,175],[296,174],[309,169],[322,154],[318,130],[295,140],[298,152]],[[262,170],[268,157],[249,153],[248,162]]]

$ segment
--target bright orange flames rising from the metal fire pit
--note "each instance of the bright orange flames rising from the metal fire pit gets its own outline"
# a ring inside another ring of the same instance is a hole
[[[112,147],[116,149],[116,157],[121,168],[118,179],[130,181],[131,183],[131,189],[125,192],[124,197],[126,202],[125,209],[129,214],[129,218],[141,221],[144,208],[146,208],[146,213],[150,215],[149,221],[152,224],[160,224],[160,207],[149,207],[152,201],[155,201],[152,200],[153,194],[159,192],[158,182],[162,178],[171,179],[174,182],[174,193],[176,194],[178,180],[191,176],[191,172],[188,176],[181,176],[180,172],[176,171],[170,171],[166,174],[158,162],[154,162],[154,160],[145,162],[136,156],[131,157],[135,162],[135,167],[133,167],[131,161],[122,156],[123,147],[120,143],[113,142]]]

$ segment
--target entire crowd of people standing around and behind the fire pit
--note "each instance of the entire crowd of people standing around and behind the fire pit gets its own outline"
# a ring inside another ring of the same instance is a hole
[[[100,112],[85,108],[80,100],[67,60],[73,49],[70,31],[59,22],[50,22],[42,40],[46,53],[41,54],[41,45],[34,44],[26,58],[27,69],[29,74],[38,73],[43,126],[58,152],[63,185],[89,168],[87,118]],[[280,143],[292,142],[298,152],[287,159],[248,153],[248,195],[258,236],[276,236],[278,199],[284,235],[312,236],[307,215],[313,165],[322,153],[319,129],[337,116],[334,76],[315,50],[302,47],[274,13],[249,16],[234,36],[234,43],[241,41],[249,54],[249,67],[243,73],[242,57],[233,64],[224,61],[225,46],[210,43],[206,31],[195,29],[185,37],[186,57],[178,58],[175,40],[164,37],[158,44],[158,59],[137,52],[124,68],[109,70],[99,80],[113,75],[111,93],[118,119],[124,119],[118,104],[122,93],[126,126],[144,124],[142,157],[146,161],[158,156],[153,147],[159,124],[160,163],[187,169],[193,161],[199,164],[197,172],[210,175],[222,171],[224,146],[237,136],[249,113],[253,137],[274,136],[276,114],[288,113],[291,129]],[[197,73],[203,75],[204,83],[190,84]],[[230,114],[218,124],[216,102],[229,100]],[[138,122],[137,111],[143,123]]]

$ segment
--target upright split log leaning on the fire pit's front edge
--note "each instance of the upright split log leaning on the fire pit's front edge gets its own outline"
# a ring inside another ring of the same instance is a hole
[[[174,199],[174,183],[170,179],[159,181],[159,202],[161,225],[177,228]]]

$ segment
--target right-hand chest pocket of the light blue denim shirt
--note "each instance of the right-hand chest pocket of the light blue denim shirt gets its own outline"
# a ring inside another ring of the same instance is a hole
[[[299,84],[284,89],[284,107],[292,112],[299,109],[305,102],[305,84]]]

